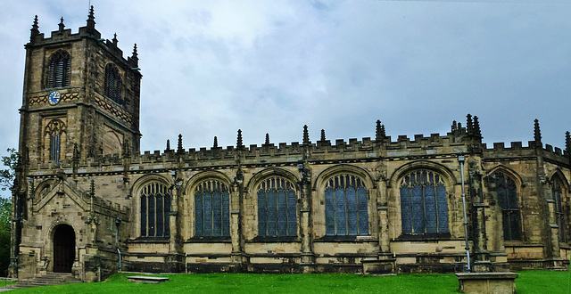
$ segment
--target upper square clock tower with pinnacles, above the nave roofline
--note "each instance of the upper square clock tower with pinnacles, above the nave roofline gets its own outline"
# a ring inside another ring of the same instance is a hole
[[[137,45],[127,59],[95,29],[93,6],[87,26],[72,34],[40,33],[37,16],[26,48],[19,150],[29,164],[54,164],[139,152],[142,75]]]

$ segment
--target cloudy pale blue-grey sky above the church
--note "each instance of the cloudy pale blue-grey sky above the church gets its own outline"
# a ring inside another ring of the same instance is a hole
[[[565,147],[571,130],[571,1],[103,1],[95,29],[137,43],[141,150],[310,139],[445,134],[466,114],[484,143]],[[25,51],[34,15],[46,36],[88,1],[4,1],[0,152],[18,143]]]

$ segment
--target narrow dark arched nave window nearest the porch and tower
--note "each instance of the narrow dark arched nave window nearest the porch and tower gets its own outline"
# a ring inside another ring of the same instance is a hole
[[[169,237],[169,212],[169,188],[160,183],[145,185],[141,192],[141,237]]]

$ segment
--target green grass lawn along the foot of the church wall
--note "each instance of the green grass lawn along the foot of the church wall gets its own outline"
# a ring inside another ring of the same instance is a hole
[[[11,293],[455,293],[454,274],[157,274],[161,284],[127,281],[115,274],[106,282],[69,284],[14,290]],[[569,272],[524,271],[516,280],[517,293],[569,293]]]

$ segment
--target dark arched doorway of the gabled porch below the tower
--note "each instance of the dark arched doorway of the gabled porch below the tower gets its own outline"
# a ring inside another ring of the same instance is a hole
[[[54,233],[54,273],[71,273],[75,259],[75,232],[70,225],[58,225]]]

